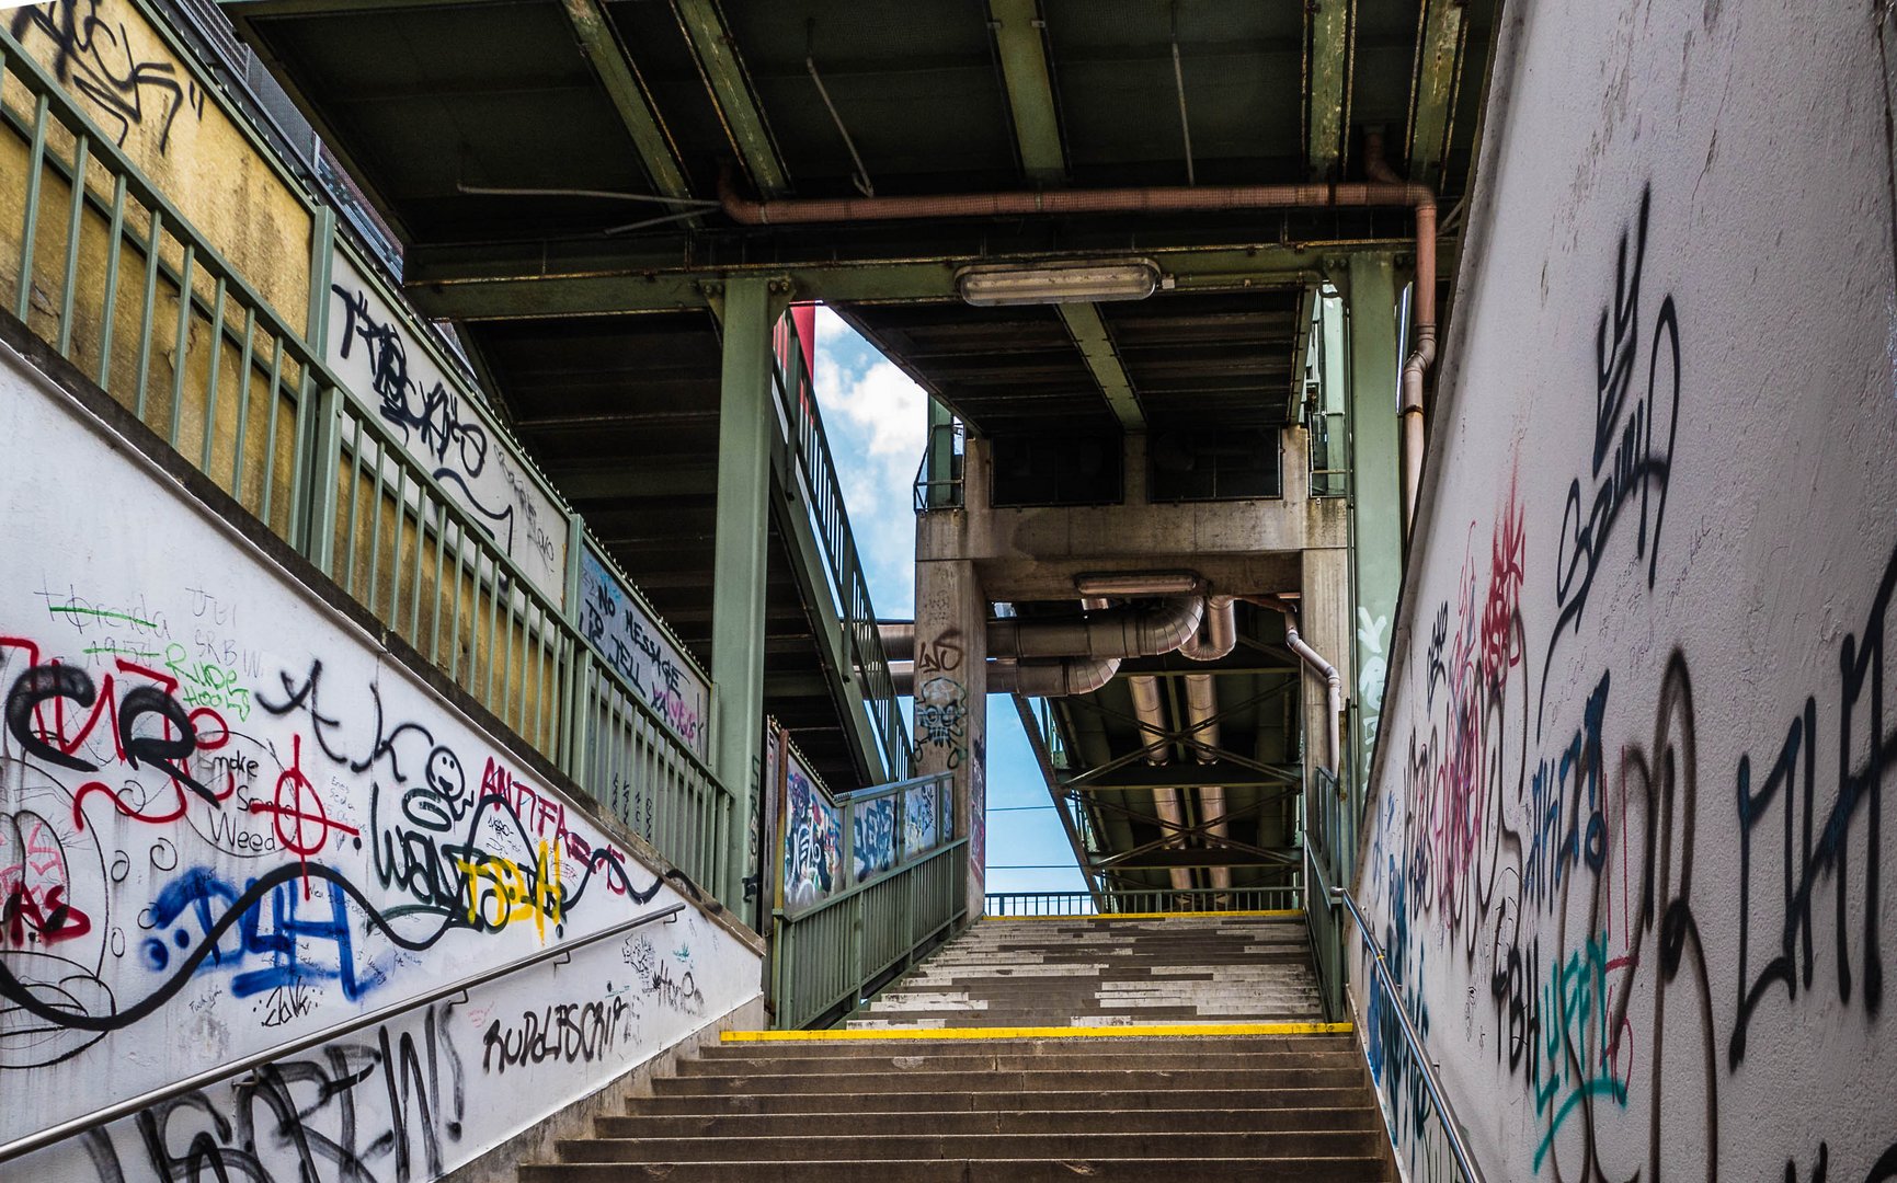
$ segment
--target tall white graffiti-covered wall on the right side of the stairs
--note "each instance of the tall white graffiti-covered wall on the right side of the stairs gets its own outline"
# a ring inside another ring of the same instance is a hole
[[[1506,9],[1358,870],[1489,1179],[1897,1177],[1888,9]]]

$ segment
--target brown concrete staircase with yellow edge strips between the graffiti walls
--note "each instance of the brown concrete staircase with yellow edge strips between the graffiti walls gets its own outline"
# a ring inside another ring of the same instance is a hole
[[[1265,918],[983,921],[859,1020],[880,1028],[706,1048],[520,1181],[1396,1179],[1354,1037],[1303,1033],[1301,940]],[[981,1022],[1108,1029],[941,1029]]]

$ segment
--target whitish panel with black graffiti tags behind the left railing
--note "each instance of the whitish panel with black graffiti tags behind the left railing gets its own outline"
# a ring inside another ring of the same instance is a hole
[[[402,449],[520,565],[565,599],[567,519],[510,451],[480,396],[444,373],[349,256],[330,262],[330,370]]]

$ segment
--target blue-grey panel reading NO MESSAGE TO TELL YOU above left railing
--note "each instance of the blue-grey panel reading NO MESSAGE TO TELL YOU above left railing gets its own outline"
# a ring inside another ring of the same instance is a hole
[[[580,552],[580,635],[694,753],[708,755],[711,686],[592,548]]]

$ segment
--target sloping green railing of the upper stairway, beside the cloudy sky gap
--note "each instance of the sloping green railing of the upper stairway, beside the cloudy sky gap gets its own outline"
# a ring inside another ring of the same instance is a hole
[[[789,324],[787,317],[783,324]],[[863,679],[863,700],[871,722],[876,726],[884,768],[890,770],[890,775],[901,775],[909,772],[909,728],[895,703],[890,660],[876,631],[876,609],[869,599],[869,580],[863,576],[863,561],[857,557],[856,538],[850,533],[842,483],[831,463],[823,417],[818,413],[816,391],[810,385],[810,366],[804,362],[797,332],[780,332],[778,339],[782,343],[774,366],[778,402],[789,425],[789,446],[797,459],[797,472],[808,489],[812,523],[823,544],[831,593],[842,620],[844,658],[848,669],[857,671]]]

